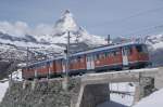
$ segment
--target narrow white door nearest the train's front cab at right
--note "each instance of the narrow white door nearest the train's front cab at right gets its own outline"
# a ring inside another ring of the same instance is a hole
[[[127,56],[127,48],[122,48],[122,58],[123,58],[123,66],[128,66],[128,56]]]

